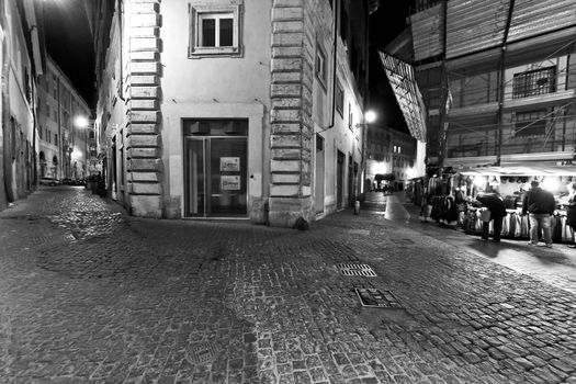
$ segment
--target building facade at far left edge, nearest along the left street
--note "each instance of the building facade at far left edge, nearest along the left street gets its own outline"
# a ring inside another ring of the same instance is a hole
[[[0,210],[36,187],[36,77],[43,70],[42,7],[0,2]]]

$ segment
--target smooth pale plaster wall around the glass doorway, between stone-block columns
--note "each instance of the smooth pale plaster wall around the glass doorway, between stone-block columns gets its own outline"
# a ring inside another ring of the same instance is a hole
[[[167,214],[183,215],[182,118],[249,120],[250,212],[252,204],[261,205],[269,184],[270,7],[262,7],[259,0],[244,1],[241,56],[190,58],[188,4],[183,0],[161,4],[161,142],[162,162],[167,165],[162,189]]]

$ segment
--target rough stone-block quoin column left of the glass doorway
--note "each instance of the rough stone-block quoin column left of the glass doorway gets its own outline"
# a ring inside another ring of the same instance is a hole
[[[126,159],[133,215],[161,217],[160,1],[134,0],[124,20],[129,36]],[[126,39],[125,39],[126,41]]]

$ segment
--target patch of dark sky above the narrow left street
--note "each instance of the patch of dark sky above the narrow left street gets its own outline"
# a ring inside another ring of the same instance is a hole
[[[44,1],[46,49],[89,106],[94,102],[94,49],[81,0]]]

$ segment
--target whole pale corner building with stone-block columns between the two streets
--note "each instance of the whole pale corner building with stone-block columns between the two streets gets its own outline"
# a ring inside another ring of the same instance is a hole
[[[99,156],[133,215],[290,227],[360,193],[373,2],[87,7]]]

